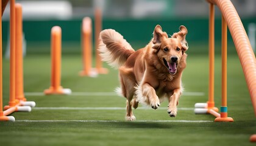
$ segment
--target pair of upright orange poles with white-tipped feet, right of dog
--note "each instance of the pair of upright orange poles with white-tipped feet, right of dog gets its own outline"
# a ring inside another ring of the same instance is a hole
[[[233,122],[232,117],[227,117],[227,23],[222,16],[221,28],[221,114],[218,113],[218,108],[215,107],[214,102],[214,5],[210,4],[210,21],[209,21],[209,97],[208,102],[196,103],[194,113],[196,114],[212,114],[216,117],[215,122]]]

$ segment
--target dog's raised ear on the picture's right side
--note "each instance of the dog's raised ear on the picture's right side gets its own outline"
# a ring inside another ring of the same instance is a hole
[[[186,41],[186,35],[188,33],[188,30],[185,26],[180,26],[180,31],[174,33],[171,37],[177,38],[180,43],[182,44],[182,54],[188,50],[188,43]]]

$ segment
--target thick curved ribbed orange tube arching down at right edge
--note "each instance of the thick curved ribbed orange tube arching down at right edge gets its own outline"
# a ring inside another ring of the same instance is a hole
[[[218,5],[224,19],[227,22],[229,31],[240,58],[246,83],[251,95],[252,105],[256,116],[256,59],[249,38],[246,35],[243,24],[238,13],[230,0],[208,0]]]

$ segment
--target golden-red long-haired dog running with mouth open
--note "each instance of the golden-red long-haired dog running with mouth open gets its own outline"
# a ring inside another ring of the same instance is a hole
[[[177,105],[182,94],[182,72],[186,67],[188,30],[180,31],[171,38],[155,26],[153,38],[146,47],[135,51],[123,36],[113,29],[102,30],[99,36],[99,52],[103,61],[119,68],[121,88],[119,93],[126,97],[126,120],[135,120],[132,107],[138,103],[157,109],[168,99],[168,114],[177,115]]]

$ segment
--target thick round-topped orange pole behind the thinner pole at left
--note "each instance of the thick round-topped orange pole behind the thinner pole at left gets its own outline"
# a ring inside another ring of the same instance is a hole
[[[22,29],[22,7],[21,4],[15,4],[15,98],[26,101],[23,89],[23,29]]]

